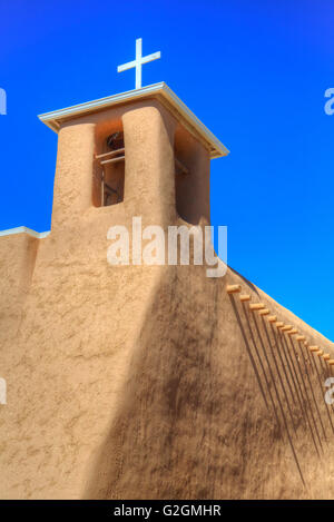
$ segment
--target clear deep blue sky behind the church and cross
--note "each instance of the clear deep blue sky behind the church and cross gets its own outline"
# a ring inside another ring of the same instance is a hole
[[[0,229],[50,228],[57,136],[37,115],[166,81],[230,149],[212,220],[230,266],[334,339],[333,0],[0,0]]]

